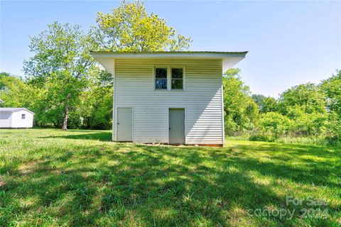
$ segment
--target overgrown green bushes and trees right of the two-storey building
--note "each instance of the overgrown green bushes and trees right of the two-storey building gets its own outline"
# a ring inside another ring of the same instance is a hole
[[[340,70],[320,84],[291,87],[278,99],[251,95],[239,70],[229,70],[223,79],[227,135],[265,141],[319,138],[341,145]]]

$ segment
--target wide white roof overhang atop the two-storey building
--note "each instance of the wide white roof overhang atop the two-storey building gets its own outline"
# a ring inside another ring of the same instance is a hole
[[[211,51],[179,51],[179,52],[112,52],[92,51],[96,59],[110,73],[114,74],[115,59],[219,59],[222,60],[222,72],[240,62],[246,55],[244,52],[211,52]]]

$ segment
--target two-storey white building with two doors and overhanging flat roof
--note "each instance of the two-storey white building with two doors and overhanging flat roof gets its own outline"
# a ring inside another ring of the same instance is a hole
[[[246,54],[92,52],[114,76],[112,140],[222,146],[222,74]]]

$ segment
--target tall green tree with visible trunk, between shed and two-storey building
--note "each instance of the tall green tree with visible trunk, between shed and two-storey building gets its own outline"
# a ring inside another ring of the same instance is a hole
[[[82,90],[97,70],[90,55],[94,43],[80,26],[53,22],[31,38],[29,48],[34,55],[23,62],[23,71],[31,84],[45,89],[45,111],[63,115],[66,130],[70,110],[80,101]]]

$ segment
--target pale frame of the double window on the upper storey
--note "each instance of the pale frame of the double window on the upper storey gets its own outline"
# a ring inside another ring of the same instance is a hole
[[[167,69],[167,89],[156,88],[156,68]],[[172,89],[172,69],[183,69],[183,89]],[[184,65],[154,65],[153,66],[153,91],[158,92],[185,92],[186,87],[186,69]]]

